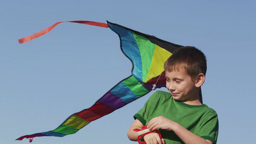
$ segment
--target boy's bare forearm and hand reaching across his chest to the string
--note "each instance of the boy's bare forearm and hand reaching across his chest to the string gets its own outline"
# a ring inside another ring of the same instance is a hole
[[[204,138],[193,134],[180,124],[169,120],[168,118],[164,118],[163,116],[152,118],[152,120],[148,122],[149,130],[156,130],[158,128],[169,131],[172,130],[185,144],[213,144],[212,141],[205,140]]]

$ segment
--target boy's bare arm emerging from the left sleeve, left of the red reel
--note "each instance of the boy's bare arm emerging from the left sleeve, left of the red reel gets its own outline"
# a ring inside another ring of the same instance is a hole
[[[137,141],[137,138],[139,136],[138,132],[134,131],[134,128],[139,128],[141,129],[143,124],[140,122],[140,120],[136,119],[133,124],[130,126],[127,132],[127,136],[130,140],[132,141]]]

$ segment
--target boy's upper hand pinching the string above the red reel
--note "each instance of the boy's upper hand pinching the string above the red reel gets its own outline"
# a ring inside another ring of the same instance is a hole
[[[174,128],[176,128],[176,126],[178,125],[178,123],[169,120],[168,118],[165,118],[163,116],[158,116],[155,118],[152,118],[152,120],[150,120],[148,122],[148,129],[149,130],[156,130],[158,128],[161,128],[162,130],[174,130]]]

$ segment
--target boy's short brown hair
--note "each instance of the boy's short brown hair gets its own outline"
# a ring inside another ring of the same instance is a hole
[[[207,65],[204,53],[194,46],[178,48],[164,63],[164,70],[173,72],[180,71],[180,68],[185,68],[192,79],[200,73],[206,75]]]

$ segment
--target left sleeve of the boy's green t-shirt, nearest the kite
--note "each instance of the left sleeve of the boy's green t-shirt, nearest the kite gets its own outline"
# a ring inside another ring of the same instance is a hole
[[[155,105],[156,95],[158,94],[158,91],[156,91],[150,98],[148,98],[147,102],[144,104],[143,108],[140,109],[134,116],[134,119],[140,120],[140,122],[145,126],[148,124],[148,116],[150,115],[150,112],[152,108]]]

